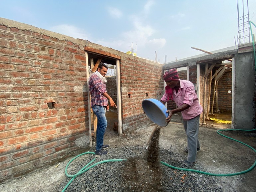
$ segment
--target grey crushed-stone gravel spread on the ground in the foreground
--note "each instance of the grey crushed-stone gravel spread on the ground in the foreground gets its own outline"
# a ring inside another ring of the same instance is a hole
[[[129,146],[129,147],[119,147],[119,148],[108,148],[109,154],[103,155],[96,158],[92,164],[107,160],[107,159],[128,159],[128,158],[143,158],[146,153],[146,149],[143,146]],[[179,167],[179,165],[184,160],[183,154],[179,155],[173,153],[170,148],[160,148],[159,149],[160,160],[173,166]],[[68,167],[68,174],[76,174],[80,169],[82,169],[87,163],[89,163],[94,156],[91,154],[82,155],[76,158]],[[123,178],[125,162],[107,162],[103,164],[98,164],[93,168],[89,169],[87,172],[78,175],[72,183],[68,186],[65,192],[84,192],[84,191],[136,191],[132,189],[131,185],[126,186]],[[92,165],[91,164],[91,165]],[[159,175],[160,183],[162,188],[159,191],[223,191],[222,187],[218,184],[220,181],[217,177],[199,174],[192,171],[181,171],[177,169],[172,169],[163,164],[160,164],[160,169],[162,175]],[[130,167],[130,171],[136,171],[136,167]],[[145,168],[146,169],[146,168]],[[150,169],[150,167],[149,167]],[[195,165],[193,169],[203,170],[199,165]],[[143,169],[144,170],[144,169]],[[147,170],[145,170],[147,171]],[[154,171],[150,169],[150,171]],[[145,172],[142,174],[145,176],[145,183],[137,183],[141,187],[146,185],[149,175]],[[66,184],[71,178],[66,177],[61,183],[56,186],[53,191],[62,191]],[[148,180],[149,181],[149,180]],[[149,181],[150,182],[150,181]],[[147,190],[140,190],[147,192]],[[145,188],[146,189],[146,188]],[[150,191],[150,190],[148,190]]]

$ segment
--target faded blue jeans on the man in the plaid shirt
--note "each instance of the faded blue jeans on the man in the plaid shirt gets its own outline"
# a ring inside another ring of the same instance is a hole
[[[93,105],[92,111],[98,119],[97,132],[96,132],[96,147],[95,147],[95,150],[98,151],[102,149],[103,137],[107,128],[106,107],[103,107],[100,105]]]

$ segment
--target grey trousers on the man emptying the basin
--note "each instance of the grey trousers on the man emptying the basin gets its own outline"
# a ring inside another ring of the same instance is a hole
[[[185,129],[185,132],[187,134],[187,141],[188,141],[188,157],[187,161],[193,163],[196,159],[196,152],[197,148],[200,147],[200,143],[198,140],[198,131],[199,131],[199,122],[200,122],[200,115],[190,119],[190,120],[184,120],[183,126]]]

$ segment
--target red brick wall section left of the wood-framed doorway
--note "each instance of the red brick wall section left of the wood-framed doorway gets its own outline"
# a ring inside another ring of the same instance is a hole
[[[71,41],[0,25],[0,180],[65,157],[89,135],[85,59]]]

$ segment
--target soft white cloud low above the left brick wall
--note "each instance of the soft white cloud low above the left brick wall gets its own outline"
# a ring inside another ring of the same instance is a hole
[[[88,35],[86,35],[86,33],[83,32],[81,29],[73,25],[67,25],[67,24],[56,25],[56,26],[50,27],[49,30],[56,33],[64,34],[69,37],[88,40]]]

